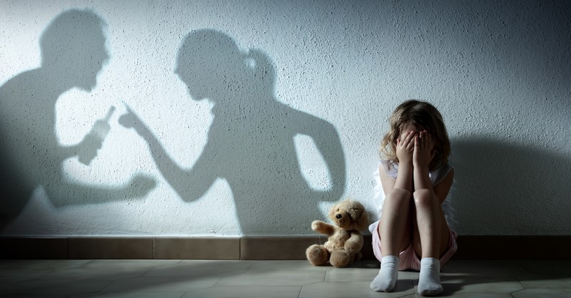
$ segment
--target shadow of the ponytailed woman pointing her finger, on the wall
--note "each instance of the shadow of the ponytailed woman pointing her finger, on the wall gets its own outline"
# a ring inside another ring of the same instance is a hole
[[[276,101],[275,68],[265,53],[242,51],[220,31],[196,30],[181,44],[175,72],[193,100],[213,103],[208,143],[192,168],[177,165],[132,111],[119,123],[146,140],[158,169],[183,200],[198,200],[223,178],[243,234],[262,235],[308,231],[311,221],[323,217],[319,202],[340,199],[345,157],[337,130]],[[301,175],[295,135],[315,141],[330,173],[328,190],[311,189]]]

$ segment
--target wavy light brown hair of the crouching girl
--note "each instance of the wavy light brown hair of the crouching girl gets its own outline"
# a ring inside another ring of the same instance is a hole
[[[380,143],[381,158],[398,163],[397,139],[406,125],[413,124],[427,130],[433,138],[436,155],[430,162],[430,170],[435,170],[443,163],[448,163],[450,140],[442,115],[435,106],[425,101],[405,101],[395,108],[388,122],[390,129]]]

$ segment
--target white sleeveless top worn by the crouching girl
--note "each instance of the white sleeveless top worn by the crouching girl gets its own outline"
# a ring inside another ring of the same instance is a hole
[[[377,167],[377,170],[375,170],[375,173],[373,173],[373,178],[375,178],[375,204],[377,204],[377,214],[379,218],[380,214],[383,212],[383,202],[385,202],[385,192],[383,191],[383,185],[380,183],[379,169],[381,168],[381,166],[383,167],[383,170],[385,170],[385,173],[387,173],[387,175],[390,178],[393,178],[394,180],[397,179],[397,174],[398,174],[398,163],[393,163],[389,160],[381,160],[379,166]],[[440,181],[442,181],[446,177],[446,175],[448,175],[448,173],[452,169],[453,168],[451,165],[445,163],[442,166],[440,166],[440,168],[436,170],[431,170],[428,173],[428,176],[430,177],[430,183],[432,183],[433,186],[437,185],[438,183],[440,183]],[[450,231],[456,231],[456,228],[458,227],[458,222],[454,218],[455,217],[454,207],[450,205],[450,200],[451,200],[450,195],[452,193],[452,190],[453,189],[451,187],[450,191],[448,192],[448,195],[446,196],[446,199],[442,203],[442,211],[444,213],[444,217],[446,219],[446,223],[448,224],[448,228],[450,229]],[[371,233],[377,230],[379,221],[380,220],[377,220],[376,222],[373,222],[371,225],[369,225],[369,231]]]

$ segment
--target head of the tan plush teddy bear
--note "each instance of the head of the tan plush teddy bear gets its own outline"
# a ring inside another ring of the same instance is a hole
[[[338,202],[329,212],[329,218],[343,230],[365,230],[369,216],[360,202],[346,199]]]

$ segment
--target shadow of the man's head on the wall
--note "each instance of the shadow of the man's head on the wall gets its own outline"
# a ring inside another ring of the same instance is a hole
[[[86,91],[108,61],[103,19],[91,11],[69,10],[56,17],[40,37],[41,66]]]

